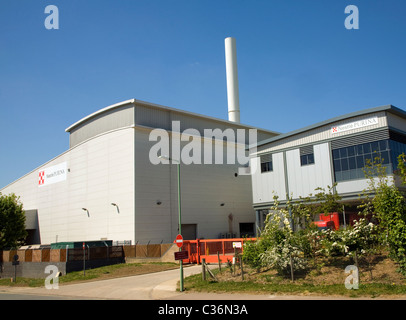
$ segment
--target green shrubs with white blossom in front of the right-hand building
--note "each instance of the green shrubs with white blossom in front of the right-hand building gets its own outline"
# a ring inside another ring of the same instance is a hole
[[[398,158],[398,174],[406,183],[406,156]],[[377,158],[364,169],[370,184],[364,192],[366,201],[359,207],[360,219],[353,226],[340,230],[318,230],[312,225],[320,213],[342,212],[343,204],[335,185],[327,190],[317,188],[314,196],[292,201],[284,207],[274,196],[274,206],[268,214],[259,240],[244,246],[243,259],[251,267],[275,268],[288,273],[293,262],[295,271],[306,270],[309,260],[334,255],[371,257],[382,243],[387,243],[391,257],[406,275],[406,202],[394,181],[387,177],[387,168]],[[371,223],[367,217],[377,221]],[[310,263],[311,264],[311,263]]]

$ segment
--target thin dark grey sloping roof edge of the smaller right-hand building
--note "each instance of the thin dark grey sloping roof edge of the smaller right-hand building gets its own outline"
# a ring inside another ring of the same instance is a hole
[[[318,122],[316,124],[306,126],[304,128],[301,128],[301,129],[297,129],[297,130],[293,130],[293,131],[290,131],[290,132],[287,132],[287,133],[283,133],[283,134],[280,134],[278,136],[259,141],[256,144],[256,146],[258,147],[258,146],[262,146],[262,145],[272,143],[272,142],[275,142],[275,141],[278,141],[278,140],[282,140],[282,139],[285,139],[287,137],[291,137],[291,136],[294,136],[294,135],[297,135],[297,134],[300,134],[300,133],[303,133],[303,132],[306,132],[306,131],[310,131],[310,130],[313,130],[313,129],[316,129],[316,128],[319,128],[319,127],[322,127],[322,126],[325,126],[325,125],[328,125],[328,124],[332,124],[332,123],[335,123],[335,122],[338,122],[338,121],[341,121],[341,120],[350,119],[350,118],[354,118],[354,117],[357,117],[357,116],[367,115],[367,114],[371,114],[371,113],[375,113],[375,112],[381,112],[381,111],[390,112],[390,113],[393,113],[395,115],[398,115],[398,116],[403,117],[403,118],[406,119],[406,111],[404,111],[402,109],[399,109],[399,108],[397,108],[397,107],[395,107],[393,105],[385,105],[385,106],[380,106],[380,107],[355,111],[355,112],[348,113],[348,114],[345,114],[345,115],[342,115],[342,116],[338,116],[338,117],[335,117],[335,118],[324,120],[324,121]]]

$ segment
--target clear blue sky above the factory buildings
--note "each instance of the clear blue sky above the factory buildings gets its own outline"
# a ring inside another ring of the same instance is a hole
[[[59,30],[47,30],[47,5]],[[347,5],[359,30],[347,30]],[[227,119],[237,40],[241,122],[288,132],[406,109],[404,0],[0,0],[0,187],[68,149],[65,128],[135,98]]]

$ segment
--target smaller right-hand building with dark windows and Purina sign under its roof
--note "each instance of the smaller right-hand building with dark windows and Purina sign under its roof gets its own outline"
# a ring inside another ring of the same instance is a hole
[[[379,156],[389,176],[406,153],[406,112],[392,105],[339,116],[260,141],[251,151],[253,206],[260,227],[274,204],[333,186],[344,202],[368,187],[363,168]]]

